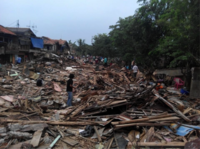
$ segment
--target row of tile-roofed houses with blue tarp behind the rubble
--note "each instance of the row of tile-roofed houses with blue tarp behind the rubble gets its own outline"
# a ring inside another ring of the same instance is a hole
[[[66,54],[70,46],[66,40],[37,37],[30,28],[4,27],[0,25],[0,63],[15,64],[29,61],[38,53],[47,51],[57,55]]]

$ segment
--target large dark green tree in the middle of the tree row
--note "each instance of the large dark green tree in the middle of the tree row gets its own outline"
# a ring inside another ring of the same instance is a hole
[[[109,34],[113,44],[126,61],[130,62],[132,55],[132,59],[146,69],[158,67],[155,60],[159,61],[160,58],[148,54],[157,46],[159,38],[166,31],[155,23],[159,15],[157,13],[161,12],[154,5],[146,3],[133,16],[120,18],[116,25],[110,26]],[[125,56],[126,54],[129,56]]]

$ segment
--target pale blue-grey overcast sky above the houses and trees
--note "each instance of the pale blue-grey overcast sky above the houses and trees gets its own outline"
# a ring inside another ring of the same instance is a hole
[[[119,17],[133,15],[137,0],[1,0],[0,24],[37,26],[37,36],[76,41],[109,33]],[[33,29],[32,29],[33,30]]]

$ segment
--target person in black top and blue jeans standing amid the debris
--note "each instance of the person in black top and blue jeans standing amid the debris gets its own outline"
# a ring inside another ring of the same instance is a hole
[[[69,80],[67,81],[67,93],[68,93],[67,106],[69,107],[72,106],[72,99],[73,99],[72,90],[73,88],[75,88],[73,86],[73,78],[74,78],[74,74],[70,74]]]

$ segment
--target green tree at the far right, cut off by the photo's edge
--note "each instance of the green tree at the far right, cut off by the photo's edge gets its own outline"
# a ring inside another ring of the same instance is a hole
[[[149,55],[168,58],[169,67],[186,67],[184,76],[189,88],[190,69],[200,65],[200,1],[143,1],[143,6],[160,7],[163,4],[162,14],[155,17],[155,24],[166,32]]]

